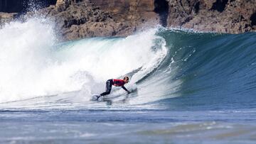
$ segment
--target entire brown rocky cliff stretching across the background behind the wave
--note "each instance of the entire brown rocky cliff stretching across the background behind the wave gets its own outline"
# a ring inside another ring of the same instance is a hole
[[[249,0],[55,0],[52,3],[55,5],[38,13],[54,21],[65,40],[125,36],[157,24],[217,33],[256,29],[256,1]],[[25,17],[34,14],[28,12]],[[9,21],[15,16],[7,17]]]

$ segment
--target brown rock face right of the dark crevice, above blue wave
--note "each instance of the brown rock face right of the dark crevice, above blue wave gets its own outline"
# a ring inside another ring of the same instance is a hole
[[[256,1],[169,0],[169,8],[169,27],[218,33],[255,31]]]

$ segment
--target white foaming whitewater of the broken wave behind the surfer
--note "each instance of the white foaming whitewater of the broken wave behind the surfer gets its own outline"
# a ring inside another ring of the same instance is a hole
[[[58,43],[46,20],[10,23],[0,30],[0,102],[81,89],[100,93],[107,79],[140,69],[132,77],[134,84],[166,55],[164,40],[155,33]]]

